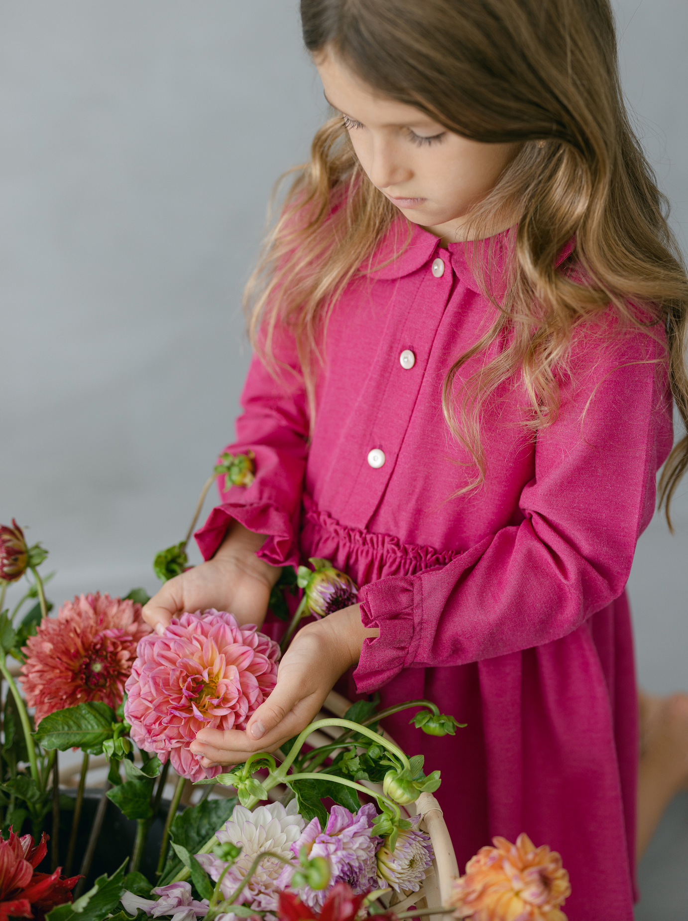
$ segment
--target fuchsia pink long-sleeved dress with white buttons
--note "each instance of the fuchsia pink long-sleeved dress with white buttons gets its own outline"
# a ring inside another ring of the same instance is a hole
[[[493,240],[495,291],[506,239]],[[442,416],[442,380],[495,308],[464,244],[442,249],[417,226],[389,262],[395,246],[393,231],[382,267],[335,305],[310,444],[298,375],[276,381],[254,357],[228,450],[255,452],[256,480],[222,493],[201,552],[238,519],[269,535],[258,555],[271,565],[319,556],[349,573],[363,623],[380,628],[349,693],[378,692],[383,706],[426,697],[468,724],[434,738],[408,712],[386,722],[427,772],[441,769],[460,869],[493,835],[526,832],[562,856],[570,921],[631,921],[638,738],[624,587],[672,443],[663,332],[614,332],[609,319],[577,332],[561,411],[536,438],[521,383],[501,388],[483,414],[487,480],[453,497],[471,468]],[[279,357],[298,371],[286,333]]]

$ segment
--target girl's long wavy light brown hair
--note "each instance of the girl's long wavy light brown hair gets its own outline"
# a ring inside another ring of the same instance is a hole
[[[574,329],[610,308],[648,334],[662,324],[671,391],[688,423],[688,280],[668,204],[625,109],[608,0],[301,0],[301,15],[312,54],[334,53],[377,92],[449,131],[518,145],[471,214],[474,239],[501,209],[518,216],[507,290],[498,303],[484,279],[497,319],[456,356],[442,389],[447,424],[475,468],[461,492],[485,478],[480,418],[490,394],[522,380],[527,425],[550,426]],[[341,117],[320,128],[310,161],[291,173],[246,305],[252,342],[270,367],[278,364],[276,327],[291,330],[313,420],[329,311],[370,271],[399,212],[361,169]],[[571,239],[575,269],[557,270]],[[459,377],[480,354],[479,370]],[[687,466],[684,437],[659,482],[670,528],[671,496]]]

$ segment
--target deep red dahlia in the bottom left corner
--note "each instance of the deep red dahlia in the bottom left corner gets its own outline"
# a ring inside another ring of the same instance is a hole
[[[19,838],[11,827],[9,838],[0,838],[0,921],[10,916],[43,921],[55,905],[72,901],[72,890],[80,877],[60,876],[61,867],[54,873],[34,871],[46,855],[47,842],[44,832],[34,846],[30,834]]]

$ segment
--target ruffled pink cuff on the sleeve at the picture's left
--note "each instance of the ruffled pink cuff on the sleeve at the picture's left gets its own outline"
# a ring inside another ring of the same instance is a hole
[[[257,534],[268,535],[256,554],[258,559],[271,566],[299,565],[294,522],[283,509],[265,501],[224,502],[214,507],[203,527],[193,535],[204,560],[210,560],[216,553],[233,520]]]

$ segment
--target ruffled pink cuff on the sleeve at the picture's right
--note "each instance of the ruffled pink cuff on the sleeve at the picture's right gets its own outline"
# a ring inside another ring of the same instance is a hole
[[[361,623],[378,627],[380,635],[366,639],[353,673],[359,694],[371,694],[413,661],[414,578],[396,576],[364,585],[359,591]]]

